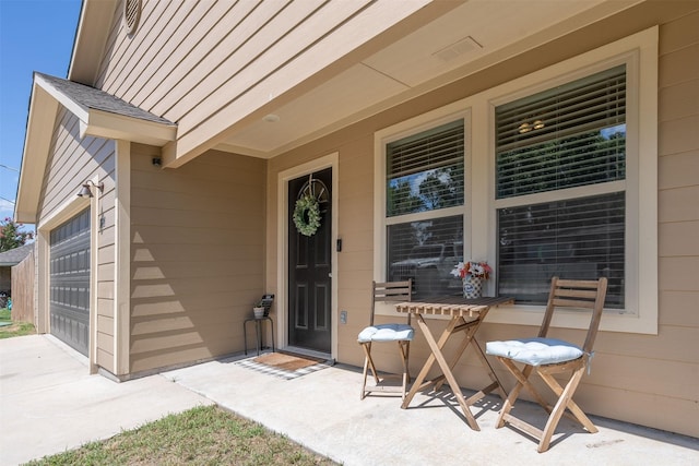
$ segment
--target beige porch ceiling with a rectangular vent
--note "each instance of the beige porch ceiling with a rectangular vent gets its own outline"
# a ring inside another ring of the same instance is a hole
[[[639,1],[467,1],[312,92],[268,111],[280,121],[260,118],[216,148],[271,158]]]

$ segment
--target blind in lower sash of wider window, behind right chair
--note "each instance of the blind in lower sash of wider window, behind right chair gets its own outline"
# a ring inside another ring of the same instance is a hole
[[[608,278],[606,306],[624,304],[624,192],[498,210],[498,285],[543,303],[553,276]]]

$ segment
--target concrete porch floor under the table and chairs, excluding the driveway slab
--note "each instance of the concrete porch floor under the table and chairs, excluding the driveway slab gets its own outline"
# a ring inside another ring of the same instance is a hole
[[[550,450],[540,454],[518,431],[495,429],[502,404],[497,395],[472,407],[481,427],[473,431],[451,392],[418,393],[401,409],[400,397],[360,401],[359,368],[336,365],[287,381],[241,368],[237,359],[163,377],[347,466],[699,465],[699,440],[688,437],[599,417],[591,419],[600,432],[590,434],[564,418]],[[545,422],[538,405],[516,406],[519,416]]]

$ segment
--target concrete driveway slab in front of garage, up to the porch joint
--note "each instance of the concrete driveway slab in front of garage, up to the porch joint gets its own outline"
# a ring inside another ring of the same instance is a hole
[[[108,439],[213,401],[153,375],[90,375],[87,359],[52,336],[0,339],[0,465]]]

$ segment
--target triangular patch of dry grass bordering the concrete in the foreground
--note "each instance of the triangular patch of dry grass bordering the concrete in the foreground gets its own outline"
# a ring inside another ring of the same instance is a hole
[[[169,415],[29,465],[336,465],[216,406]]]

